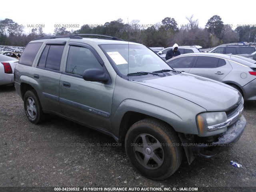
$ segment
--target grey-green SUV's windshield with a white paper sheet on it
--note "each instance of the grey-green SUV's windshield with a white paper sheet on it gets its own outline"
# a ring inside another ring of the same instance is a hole
[[[152,74],[162,70],[172,70],[152,50],[142,45],[105,44],[100,46],[116,72],[121,76],[129,76],[138,72]],[[154,74],[153,74],[154,75]]]

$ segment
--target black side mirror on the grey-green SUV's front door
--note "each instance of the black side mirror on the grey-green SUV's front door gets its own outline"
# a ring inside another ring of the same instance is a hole
[[[86,81],[108,81],[108,75],[100,69],[87,69],[83,73],[83,79]]]

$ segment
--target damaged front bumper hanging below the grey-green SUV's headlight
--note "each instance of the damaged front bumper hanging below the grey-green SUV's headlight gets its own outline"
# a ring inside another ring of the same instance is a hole
[[[239,140],[245,127],[246,119],[242,115],[237,122],[228,127],[226,132],[214,138],[215,141],[213,142],[196,142],[194,135],[179,134],[188,163],[190,164],[196,156],[211,158],[224,150],[228,150]]]

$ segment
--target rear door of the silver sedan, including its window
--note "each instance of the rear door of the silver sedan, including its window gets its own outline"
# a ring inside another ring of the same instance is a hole
[[[198,56],[190,73],[221,81],[231,70],[232,66],[222,58]]]

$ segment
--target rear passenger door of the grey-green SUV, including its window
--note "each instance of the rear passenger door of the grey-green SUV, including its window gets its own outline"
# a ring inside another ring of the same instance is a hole
[[[37,84],[36,91],[42,108],[60,114],[59,84],[65,44],[65,41],[47,42],[31,76]]]

